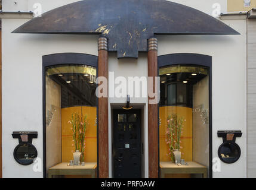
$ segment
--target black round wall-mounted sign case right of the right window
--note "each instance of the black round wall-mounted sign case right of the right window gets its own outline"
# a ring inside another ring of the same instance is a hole
[[[242,137],[241,131],[218,131],[218,137],[223,138],[223,144],[218,148],[218,157],[224,163],[235,163],[241,155],[241,150],[236,144],[236,137]]]

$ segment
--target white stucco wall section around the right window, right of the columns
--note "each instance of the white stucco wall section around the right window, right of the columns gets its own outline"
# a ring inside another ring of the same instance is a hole
[[[238,162],[221,162],[214,178],[246,178],[246,21],[224,21],[241,35],[158,36],[158,55],[201,53],[212,56],[212,157],[218,157],[218,130],[242,130],[236,138]],[[238,172],[239,171],[239,172]]]

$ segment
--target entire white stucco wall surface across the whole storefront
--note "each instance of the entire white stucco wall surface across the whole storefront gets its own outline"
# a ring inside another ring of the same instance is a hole
[[[33,11],[35,2],[42,3],[42,11],[75,2],[73,0],[3,0],[4,11]],[[226,12],[226,0],[175,0],[211,14],[211,5],[220,2]],[[61,52],[78,52],[97,55],[98,36],[11,34],[26,20],[2,20],[2,158],[4,178],[42,178],[42,172],[33,172],[33,165],[21,166],[13,158],[18,144],[11,137],[13,131],[38,131],[33,140],[42,158],[42,55]],[[221,162],[221,172],[214,178],[246,177],[246,24],[245,21],[224,21],[242,35],[239,36],[158,36],[159,55],[167,53],[202,53],[212,56],[212,144],[213,157],[217,157],[222,139],[217,131],[242,130],[237,138],[242,155],[235,164]],[[109,57],[109,71],[118,75],[147,76],[147,59],[141,54],[137,61]],[[117,76],[117,75],[116,75]],[[111,99],[124,103],[125,99]],[[144,103],[147,125],[147,100],[131,99]],[[110,116],[109,116],[110,117]],[[111,120],[110,120],[111,121]],[[111,124],[111,123],[110,123]],[[147,137],[145,137],[147,139]],[[111,144],[111,142],[110,142]],[[145,147],[147,148],[147,147]],[[111,149],[110,149],[111,150]],[[111,155],[109,155],[111,156]],[[111,163],[110,163],[111,164]],[[148,164],[148,163],[146,163]],[[239,171],[239,172],[238,172]],[[110,173],[111,174],[111,173]]]

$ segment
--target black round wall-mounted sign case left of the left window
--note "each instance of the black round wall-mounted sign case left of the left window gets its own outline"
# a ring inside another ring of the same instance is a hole
[[[33,138],[38,138],[38,132],[15,131],[12,135],[13,138],[18,138],[18,145],[13,152],[16,162],[24,166],[32,164],[38,156],[38,151],[32,144]]]

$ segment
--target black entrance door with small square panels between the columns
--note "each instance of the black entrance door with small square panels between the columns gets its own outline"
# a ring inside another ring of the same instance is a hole
[[[141,178],[140,110],[114,110],[115,178]]]

